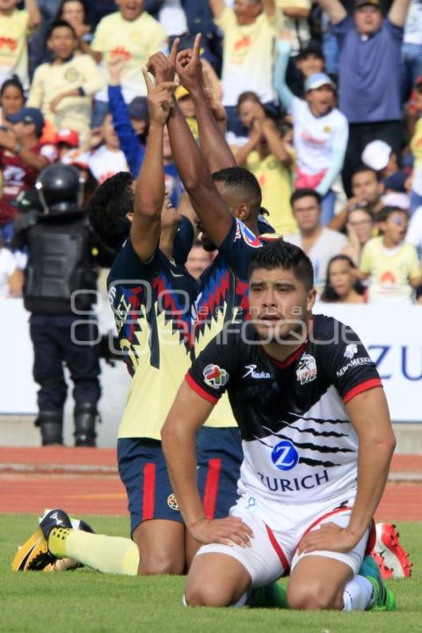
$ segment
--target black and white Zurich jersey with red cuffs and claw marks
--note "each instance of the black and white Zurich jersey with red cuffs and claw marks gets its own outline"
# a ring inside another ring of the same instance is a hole
[[[211,403],[228,392],[244,449],[239,494],[307,503],[356,489],[358,443],[345,404],[382,383],[343,323],[314,316],[307,342],[282,363],[251,323],[230,325],[186,379]]]

